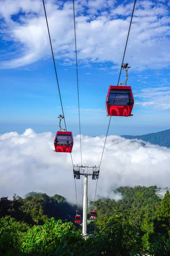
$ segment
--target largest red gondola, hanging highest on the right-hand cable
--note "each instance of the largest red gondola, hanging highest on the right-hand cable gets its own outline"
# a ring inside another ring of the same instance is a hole
[[[108,116],[131,116],[134,100],[130,86],[110,85],[106,98]]]

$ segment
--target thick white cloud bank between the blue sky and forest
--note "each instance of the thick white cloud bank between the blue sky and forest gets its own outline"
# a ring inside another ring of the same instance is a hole
[[[58,193],[75,203],[73,168],[70,154],[55,153],[54,134],[36,134],[27,129],[0,135],[0,196],[29,191]],[[82,162],[98,165],[105,137],[82,135]],[[79,136],[74,137],[72,152],[75,164],[80,164]],[[108,136],[99,174],[97,197],[114,197],[119,186],[170,187],[170,149]],[[160,171],[161,170],[161,171]],[[81,180],[76,180],[81,204]],[[88,200],[94,200],[96,181],[88,179]]]

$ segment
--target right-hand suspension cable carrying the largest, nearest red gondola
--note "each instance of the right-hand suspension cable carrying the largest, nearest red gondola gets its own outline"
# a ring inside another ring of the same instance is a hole
[[[122,59],[122,65],[123,65],[123,61],[124,61],[124,58],[125,58],[127,41],[128,41],[128,38],[129,38],[130,27],[131,27],[131,23],[132,23],[132,19],[133,19],[133,12],[134,12],[134,9],[135,9],[135,4],[136,4],[136,0],[134,0],[133,11],[132,11],[132,16],[131,16],[131,20],[130,20],[130,26],[129,26],[129,30],[128,30],[128,34],[127,34],[127,39],[126,39],[125,51],[124,51],[123,59]],[[119,73],[119,79],[120,79],[120,75],[121,75],[121,72],[122,72],[122,65],[121,65],[121,69],[120,69],[120,73]],[[119,79],[118,79],[117,85],[119,84]],[[104,150],[105,150],[106,140],[107,140],[107,137],[108,137],[108,131],[109,131],[110,123],[111,123],[111,117],[110,117],[109,124],[108,124],[108,130],[107,130],[107,134],[106,134],[106,138],[105,138],[105,143],[104,143],[104,147],[103,147],[103,151],[102,151],[102,157],[103,157],[103,153],[104,153]],[[101,157],[101,160],[100,160],[99,169],[100,169],[100,166],[101,166],[101,163],[102,163],[102,157]],[[97,183],[98,183],[98,180],[96,182],[96,190],[97,190]],[[95,196],[94,196],[94,203],[95,203],[95,200],[96,200],[96,191],[95,191]]]

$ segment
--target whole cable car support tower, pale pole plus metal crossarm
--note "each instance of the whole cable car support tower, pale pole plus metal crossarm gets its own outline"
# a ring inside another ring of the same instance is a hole
[[[85,176],[84,198],[83,198],[83,220],[82,220],[82,234],[87,235],[87,213],[88,213],[88,176],[92,175],[92,180],[98,180],[99,167],[97,166],[74,166],[74,179],[80,180],[80,175]]]

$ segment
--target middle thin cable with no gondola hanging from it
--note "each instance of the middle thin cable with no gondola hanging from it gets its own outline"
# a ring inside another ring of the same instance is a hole
[[[75,40],[76,72],[77,72],[77,96],[78,96],[78,108],[79,108],[79,79],[78,79],[78,65],[77,65],[76,22],[75,22],[74,0],[73,0],[73,12],[74,12],[74,40]],[[81,127],[80,127],[80,108],[79,108],[79,134],[80,134],[80,156],[81,156],[81,166],[82,166],[82,140],[81,140]],[[82,189],[82,191],[83,191],[83,189]],[[83,192],[82,192],[82,204],[83,204]]]

